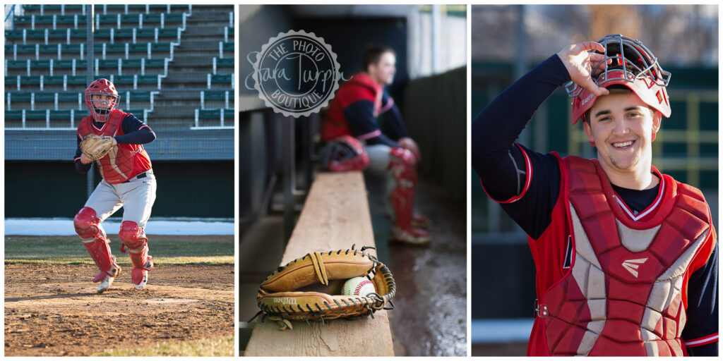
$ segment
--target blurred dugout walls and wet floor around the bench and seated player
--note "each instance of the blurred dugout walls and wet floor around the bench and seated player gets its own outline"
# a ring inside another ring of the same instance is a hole
[[[239,321],[248,321],[257,311],[254,297],[249,295],[255,295],[266,271],[282,259],[309,186],[317,184],[315,175],[321,162],[320,115],[284,117],[268,108],[253,89],[253,81],[250,87],[244,83],[253,71],[247,54],[260,51],[279,32],[305,30],[332,46],[346,79],[361,70],[366,45],[389,45],[396,53],[397,72],[389,92],[422,149],[418,169],[422,186],[418,189],[424,188],[419,193],[427,196],[422,197],[423,204],[418,203],[422,206],[419,210],[435,213],[434,229],[440,237],[427,249],[388,245],[390,220],[385,216],[382,183],[364,175],[377,255],[393,265],[395,278],[401,277],[399,283],[404,284],[404,290],[398,292],[403,297],[394,300],[398,310],[389,312],[393,337],[401,343],[401,347],[395,346],[395,355],[466,354],[466,157],[461,156],[466,151],[466,47],[464,38],[456,36],[466,34],[466,6],[442,8],[447,30],[440,32],[445,53],[440,56],[446,58],[440,60],[440,69],[432,72],[430,39],[425,38],[431,26],[431,6],[241,6]],[[383,119],[380,123],[383,127]],[[349,245],[354,239],[348,235]],[[448,261],[427,262],[435,254]],[[415,267],[444,279],[439,283],[448,287],[455,300],[446,316],[432,310],[431,282],[415,279],[411,271]],[[412,304],[424,311],[411,314]],[[403,331],[408,329],[414,331]],[[243,352],[243,336],[240,343]]]

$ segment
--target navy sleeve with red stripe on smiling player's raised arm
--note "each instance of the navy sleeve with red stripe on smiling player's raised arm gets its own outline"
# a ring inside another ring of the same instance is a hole
[[[497,95],[472,122],[472,167],[489,197],[533,239],[547,229],[560,193],[554,155],[515,145],[544,100],[570,76],[557,55]]]

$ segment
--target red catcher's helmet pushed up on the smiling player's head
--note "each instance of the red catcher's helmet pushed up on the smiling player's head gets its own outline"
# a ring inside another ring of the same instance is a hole
[[[670,73],[660,67],[658,58],[639,40],[620,34],[605,35],[597,42],[605,48],[603,53],[605,58],[592,67],[591,74],[601,71],[594,79],[595,83],[599,87],[624,85],[638,95],[643,103],[662,113],[665,118],[669,118],[670,102],[665,87],[670,81]],[[612,59],[611,64],[607,64],[608,59]],[[597,97],[573,82],[565,84],[565,90],[570,97],[573,97],[574,124],[592,108]]]

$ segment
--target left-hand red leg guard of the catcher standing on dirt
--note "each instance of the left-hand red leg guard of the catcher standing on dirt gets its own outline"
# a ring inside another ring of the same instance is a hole
[[[100,220],[95,217],[95,210],[90,207],[83,207],[73,219],[75,232],[80,236],[85,249],[93,258],[95,266],[98,266],[98,274],[95,274],[93,282],[100,282],[106,275],[116,277],[121,268],[116,264],[116,258],[111,256],[111,246],[100,227]]]

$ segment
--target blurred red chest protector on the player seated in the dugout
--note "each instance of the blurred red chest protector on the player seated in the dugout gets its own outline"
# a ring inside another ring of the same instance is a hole
[[[344,110],[352,103],[369,100],[374,103],[374,116],[379,116],[383,94],[384,87],[364,72],[354,74],[348,82],[341,84],[326,110],[321,125],[322,141],[330,142],[339,136],[351,135]]]

